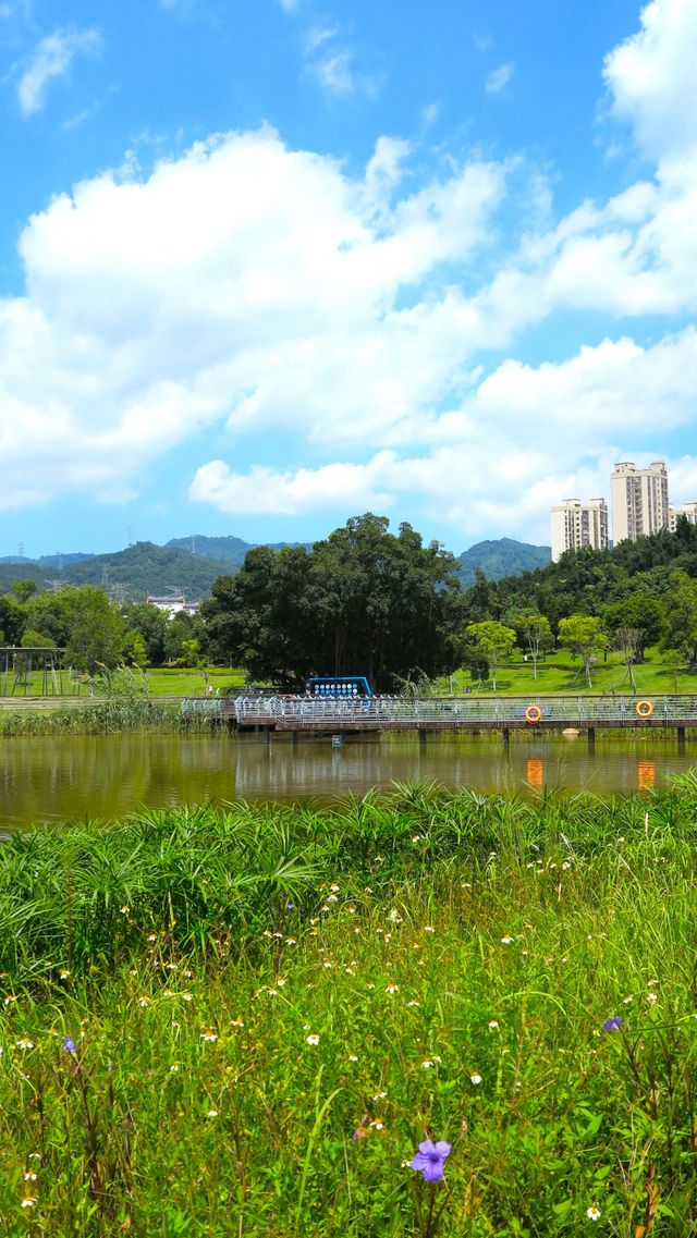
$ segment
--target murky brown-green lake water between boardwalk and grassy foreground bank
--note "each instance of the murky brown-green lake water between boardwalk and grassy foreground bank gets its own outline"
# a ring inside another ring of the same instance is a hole
[[[142,805],[167,807],[223,800],[312,799],[332,802],[394,781],[428,780],[505,795],[649,790],[697,765],[697,742],[613,740],[597,735],[525,735],[504,750],[490,738],[430,735],[298,739],[219,732],[213,735],[5,737],[0,748],[0,833],[46,821],[110,820]]]

